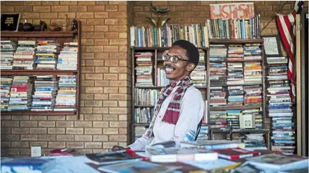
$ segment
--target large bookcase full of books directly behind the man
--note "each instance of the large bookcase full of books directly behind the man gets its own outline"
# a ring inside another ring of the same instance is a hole
[[[191,26],[130,27],[131,142],[149,127],[158,94],[168,84],[162,54],[175,40],[183,39],[195,44],[200,54],[199,65],[191,74],[193,86],[205,100],[205,116],[197,140],[241,140],[252,149],[270,149],[264,40],[259,31],[259,15],[255,18],[252,24],[225,21],[223,28],[216,25],[220,22],[216,20]],[[235,29],[237,23],[244,26]]]

